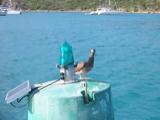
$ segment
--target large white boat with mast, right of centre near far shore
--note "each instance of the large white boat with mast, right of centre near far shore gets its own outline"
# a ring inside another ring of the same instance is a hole
[[[108,7],[99,7],[96,11],[91,11],[89,15],[115,15],[115,14],[123,14],[125,11],[122,10],[113,10],[111,7],[110,0],[108,1]]]

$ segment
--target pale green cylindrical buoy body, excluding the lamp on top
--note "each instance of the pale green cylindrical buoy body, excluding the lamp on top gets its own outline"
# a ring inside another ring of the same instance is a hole
[[[28,120],[114,120],[110,85],[88,81],[93,99],[84,104],[84,81],[51,85],[30,95]]]

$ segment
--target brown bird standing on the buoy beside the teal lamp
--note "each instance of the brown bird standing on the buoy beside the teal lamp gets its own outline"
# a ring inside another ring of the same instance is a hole
[[[85,75],[93,68],[95,52],[96,52],[95,49],[91,49],[88,61],[78,63],[77,66],[75,67],[75,73],[80,75],[80,79],[82,75]]]

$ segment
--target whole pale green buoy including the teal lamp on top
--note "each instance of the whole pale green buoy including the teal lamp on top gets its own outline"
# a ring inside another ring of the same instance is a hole
[[[72,47],[65,42],[60,52],[60,81],[64,82],[30,93],[28,120],[114,120],[111,86],[76,80]],[[71,83],[65,83],[70,79]]]

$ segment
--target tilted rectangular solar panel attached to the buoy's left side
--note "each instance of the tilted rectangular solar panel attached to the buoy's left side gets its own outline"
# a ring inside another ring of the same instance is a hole
[[[24,95],[28,94],[30,91],[31,91],[31,85],[28,80],[8,91],[5,101],[7,104],[9,104],[14,100],[16,100],[17,98],[23,97]]]

